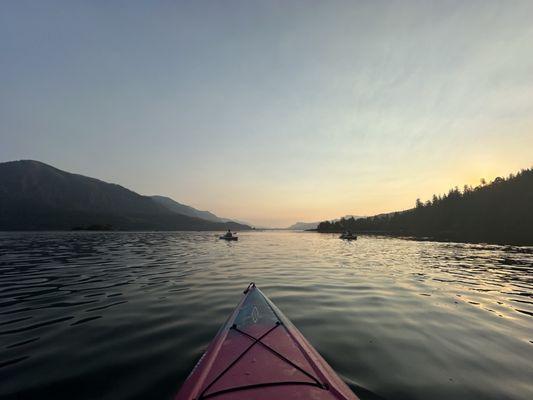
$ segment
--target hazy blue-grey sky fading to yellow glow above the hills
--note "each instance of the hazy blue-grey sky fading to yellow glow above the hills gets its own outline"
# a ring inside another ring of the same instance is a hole
[[[3,1],[0,161],[253,224],[533,165],[532,1]]]

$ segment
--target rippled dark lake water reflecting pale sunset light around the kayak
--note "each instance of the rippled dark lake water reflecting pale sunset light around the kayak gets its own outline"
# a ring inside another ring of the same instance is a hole
[[[533,249],[335,235],[0,233],[0,397],[171,399],[255,281],[349,383],[533,399]]]

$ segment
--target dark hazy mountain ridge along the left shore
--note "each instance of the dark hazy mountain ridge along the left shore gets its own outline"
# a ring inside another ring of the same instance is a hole
[[[0,230],[246,230],[163,196],[72,174],[39,161],[0,163]]]

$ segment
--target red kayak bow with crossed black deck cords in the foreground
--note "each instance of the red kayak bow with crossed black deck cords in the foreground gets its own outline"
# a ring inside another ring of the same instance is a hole
[[[358,399],[253,283],[176,396],[211,398]]]

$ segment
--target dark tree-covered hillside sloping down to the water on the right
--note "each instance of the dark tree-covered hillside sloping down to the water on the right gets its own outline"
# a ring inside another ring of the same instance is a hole
[[[473,188],[434,195],[413,209],[360,219],[321,222],[319,232],[432,237],[440,240],[533,245],[533,169]]]

